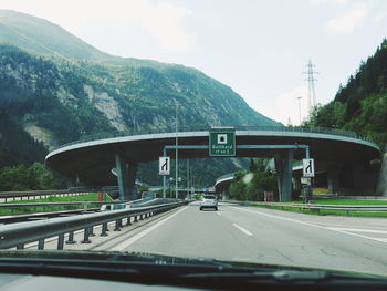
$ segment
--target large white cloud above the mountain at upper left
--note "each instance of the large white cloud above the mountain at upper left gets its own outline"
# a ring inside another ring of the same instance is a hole
[[[185,28],[191,11],[182,6],[154,0],[1,0],[0,9],[12,9],[44,18],[77,33],[84,25],[143,28],[168,51],[195,48],[195,35]],[[125,38],[125,35],[123,35]]]

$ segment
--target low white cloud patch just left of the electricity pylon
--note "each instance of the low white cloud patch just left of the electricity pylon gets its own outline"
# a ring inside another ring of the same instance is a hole
[[[289,92],[285,92],[273,98],[273,103],[270,110],[261,112],[265,116],[279,121],[284,125],[291,119],[292,125],[300,124],[300,108],[299,100],[301,103],[301,121],[307,116],[307,87],[306,85],[300,85]]]

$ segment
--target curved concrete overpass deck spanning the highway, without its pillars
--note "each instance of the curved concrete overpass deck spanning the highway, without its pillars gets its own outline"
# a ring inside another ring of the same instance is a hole
[[[113,185],[116,177],[117,155],[136,165],[157,160],[166,145],[175,145],[176,133],[158,133],[77,142],[51,152],[46,165],[67,176],[79,177],[92,185]],[[179,145],[208,145],[209,131],[179,132]],[[337,135],[336,132],[316,132],[302,128],[278,127],[266,129],[237,129],[237,145],[308,145],[316,165],[354,165],[378,158],[380,150],[372,142],[356,136]],[[274,157],[280,149],[237,149],[237,157]],[[174,158],[175,150],[168,153]],[[208,157],[208,149],[179,149],[179,158]],[[293,152],[295,159],[305,157],[303,149]]]

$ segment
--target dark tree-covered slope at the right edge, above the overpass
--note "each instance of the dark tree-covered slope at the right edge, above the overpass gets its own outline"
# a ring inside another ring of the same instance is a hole
[[[385,150],[387,142],[387,40],[362,62],[331,103],[316,107],[308,125],[343,128],[367,137]]]

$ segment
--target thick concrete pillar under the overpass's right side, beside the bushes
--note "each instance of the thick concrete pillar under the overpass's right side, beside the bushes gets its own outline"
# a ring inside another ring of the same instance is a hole
[[[292,200],[293,149],[275,155],[280,201]]]

